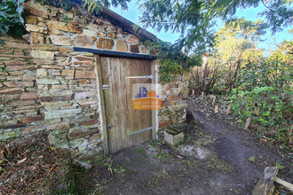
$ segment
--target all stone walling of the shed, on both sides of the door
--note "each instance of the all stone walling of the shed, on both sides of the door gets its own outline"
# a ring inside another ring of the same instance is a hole
[[[25,3],[24,39],[0,45],[0,138],[48,132],[54,147],[67,148],[83,165],[103,157],[96,58],[74,46],[149,54],[139,38],[76,6],[66,12]],[[164,85],[160,128],[185,121],[186,74]]]

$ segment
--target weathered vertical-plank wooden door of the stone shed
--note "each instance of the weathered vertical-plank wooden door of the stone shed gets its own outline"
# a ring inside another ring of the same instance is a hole
[[[150,75],[151,61],[109,57],[100,57],[99,60],[102,85],[109,87],[103,90],[109,152],[147,142],[152,138],[152,112],[132,110],[132,84],[152,81],[126,77]],[[136,133],[142,129],[148,130]]]

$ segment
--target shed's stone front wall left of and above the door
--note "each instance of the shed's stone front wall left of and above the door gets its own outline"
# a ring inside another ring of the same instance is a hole
[[[103,146],[96,58],[92,53],[75,52],[73,47],[141,54],[149,50],[135,35],[79,6],[66,12],[30,1],[25,3],[25,12],[50,143],[69,149],[72,158],[83,165],[99,161]]]

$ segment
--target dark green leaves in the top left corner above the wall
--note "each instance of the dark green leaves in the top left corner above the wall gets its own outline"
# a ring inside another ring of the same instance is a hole
[[[2,0],[0,2],[0,31],[4,35],[13,31],[13,35],[23,35],[25,28],[22,18],[24,0]]]

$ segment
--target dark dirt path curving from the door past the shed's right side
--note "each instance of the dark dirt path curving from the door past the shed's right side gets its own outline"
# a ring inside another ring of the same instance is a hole
[[[259,143],[204,106],[189,106],[185,142],[171,149],[140,144],[117,152],[111,165],[91,168],[80,183],[95,194],[251,194],[265,167],[280,163],[279,176],[292,183],[292,158]],[[196,120],[194,120],[194,118]],[[197,121],[194,126],[194,121]]]

